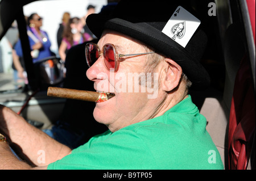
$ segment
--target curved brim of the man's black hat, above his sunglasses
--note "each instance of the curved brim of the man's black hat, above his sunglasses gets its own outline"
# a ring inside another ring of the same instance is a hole
[[[177,62],[192,82],[193,89],[203,89],[210,84],[210,78],[207,71],[200,64],[201,57],[192,57],[187,49],[171,40],[170,37],[150,26],[149,23],[136,22],[131,23],[120,18],[112,18],[111,16],[102,16],[100,14],[92,14],[86,19],[86,23],[90,31],[98,38],[104,30],[113,30],[133,37],[144,44],[154,48],[156,52],[162,53]],[[201,30],[197,31],[191,40],[200,43],[207,43],[207,37]],[[195,46],[191,46],[192,48]],[[205,47],[204,45],[201,47]]]

